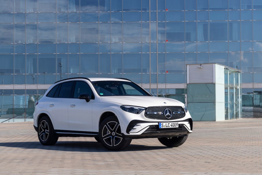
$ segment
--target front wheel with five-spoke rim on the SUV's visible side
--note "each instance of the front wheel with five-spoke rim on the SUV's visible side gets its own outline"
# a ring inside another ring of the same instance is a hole
[[[101,144],[110,151],[125,149],[132,141],[126,140],[116,116],[107,117],[99,126]]]

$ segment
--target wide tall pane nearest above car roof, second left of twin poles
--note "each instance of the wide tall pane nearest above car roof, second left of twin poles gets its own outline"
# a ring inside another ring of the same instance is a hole
[[[123,54],[124,73],[141,73],[141,54]]]

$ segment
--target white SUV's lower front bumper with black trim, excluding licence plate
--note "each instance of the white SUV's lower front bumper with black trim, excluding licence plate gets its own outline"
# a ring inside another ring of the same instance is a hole
[[[190,134],[193,131],[193,121],[191,118],[175,122],[178,122],[178,128],[159,128],[159,122],[133,120],[126,129],[127,135],[125,137],[132,139],[179,137]]]

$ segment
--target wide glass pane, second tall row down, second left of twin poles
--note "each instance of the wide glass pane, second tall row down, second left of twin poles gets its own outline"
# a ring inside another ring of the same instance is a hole
[[[141,42],[141,23],[123,24],[123,42]]]

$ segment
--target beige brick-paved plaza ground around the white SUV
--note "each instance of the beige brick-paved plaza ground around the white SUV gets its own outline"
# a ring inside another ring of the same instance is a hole
[[[0,174],[262,175],[262,119],[194,122],[180,147],[137,139],[118,152],[87,137],[62,137],[43,146],[33,122],[1,123]]]

